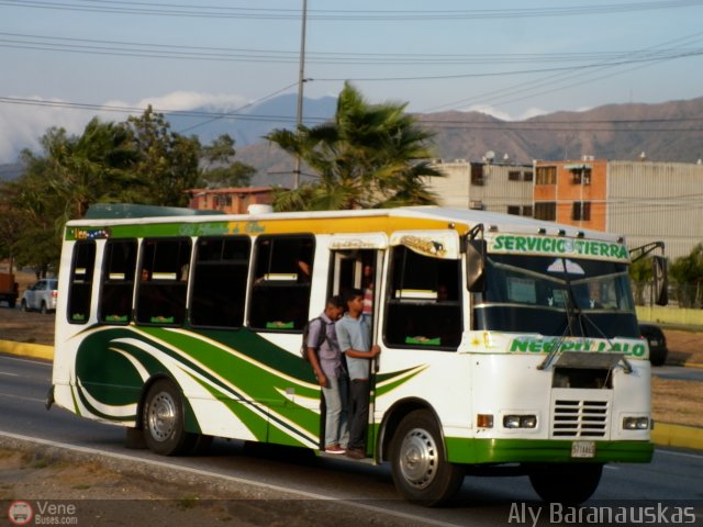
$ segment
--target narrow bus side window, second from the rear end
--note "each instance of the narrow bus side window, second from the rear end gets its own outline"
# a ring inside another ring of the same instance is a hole
[[[98,319],[109,324],[127,324],[132,318],[136,239],[109,239],[100,285]]]

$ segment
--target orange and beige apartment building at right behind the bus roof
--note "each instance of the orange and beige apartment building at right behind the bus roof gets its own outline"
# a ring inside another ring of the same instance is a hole
[[[535,217],[623,234],[632,247],[663,240],[667,256],[703,242],[703,165],[534,161]]]

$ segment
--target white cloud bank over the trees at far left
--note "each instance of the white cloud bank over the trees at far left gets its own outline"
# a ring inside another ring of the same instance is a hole
[[[46,102],[52,104],[42,104]],[[60,99],[19,96],[0,101],[0,164],[16,161],[23,148],[38,152],[41,137],[52,126],[64,127],[69,134],[80,134],[86,124],[96,115],[103,121],[126,120],[127,114],[123,112],[82,110],[60,105],[66,102]],[[104,106],[146,109],[148,104],[152,104],[158,112],[197,108],[232,111],[247,104],[247,102],[246,98],[236,94],[175,91],[159,97],[145,98],[137,102],[107,101]],[[135,113],[141,113],[141,111]]]

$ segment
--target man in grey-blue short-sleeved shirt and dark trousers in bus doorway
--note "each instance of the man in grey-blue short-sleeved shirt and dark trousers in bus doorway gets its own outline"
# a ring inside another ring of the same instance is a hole
[[[366,427],[369,421],[369,378],[371,360],[381,349],[371,344],[369,317],[364,315],[364,291],[353,289],[345,294],[346,314],[336,323],[339,349],[347,358],[349,372],[349,442],[345,455],[366,458]]]

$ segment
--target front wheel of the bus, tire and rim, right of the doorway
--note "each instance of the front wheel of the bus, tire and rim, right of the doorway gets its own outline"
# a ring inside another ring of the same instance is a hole
[[[393,483],[410,502],[442,505],[461,486],[464,468],[447,461],[439,427],[426,410],[411,412],[401,421],[390,453]]]

